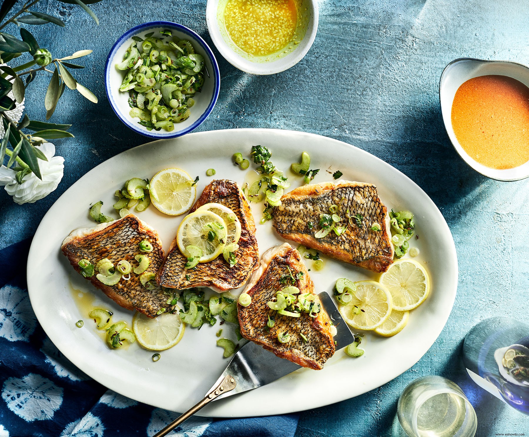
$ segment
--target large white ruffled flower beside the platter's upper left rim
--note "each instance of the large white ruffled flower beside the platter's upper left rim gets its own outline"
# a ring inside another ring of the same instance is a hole
[[[7,194],[13,196],[13,201],[19,205],[33,203],[46,197],[57,188],[62,179],[65,159],[55,154],[55,146],[52,143],[43,143],[37,146],[48,158],[43,161],[38,158],[42,180],[34,173],[26,175],[19,184],[16,180],[16,172],[5,166],[0,166],[0,186],[5,186]]]

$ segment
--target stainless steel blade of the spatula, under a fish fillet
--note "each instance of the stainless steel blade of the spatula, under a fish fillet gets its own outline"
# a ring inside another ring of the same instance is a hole
[[[349,330],[347,324],[342,320],[342,316],[334,304],[332,297],[326,292],[322,292],[318,294],[318,296],[320,297],[325,311],[329,314],[331,321],[338,331],[334,336],[336,350],[343,349],[354,341],[354,335]],[[253,388],[269,384],[299,368],[300,366],[296,363],[284,358],[276,357],[275,354],[263,349],[262,346],[249,341],[239,349],[230,361],[226,370],[224,370],[221,377],[218,378],[212,387],[212,389],[215,388],[227,375],[231,375],[236,381],[235,388],[231,390],[231,392],[220,395],[214,400],[223,399],[237,393],[247,392]],[[211,392],[211,390],[209,390],[208,393],[209,392]]]

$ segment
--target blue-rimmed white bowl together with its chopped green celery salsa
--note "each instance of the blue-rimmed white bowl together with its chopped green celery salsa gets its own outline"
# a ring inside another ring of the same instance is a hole
[[[206,42],[183,25],[135,26],[113,45],[105,90],[118,118],[150,138],[175,138],[213,111],[220,89],[217,61]]]

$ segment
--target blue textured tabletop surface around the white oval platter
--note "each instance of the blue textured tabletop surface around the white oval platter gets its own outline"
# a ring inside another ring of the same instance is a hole
[[[2,190],[0,247],[31,236],[50,205],[87,170],[145,142],[117,120],[103,90],[106,55],[123,32],[141,22],[169,20],[194,29],[211,44],[204,0],[107,0],[93,6],[99,27],[75,6],[42,0],[40,8],[67,22],[65,29],[51,24],[38,29],[42,47],[56,56],[94,50],[76,76],[100,100],[93,105],[66,90],[51,120],[74,124],[75,139],[55,141],[57,153],[66,158],[65,178],[56,192],[32,205],[17,206]],[[398,395],[409,381],[432,374],[453,379],[466,392],[476,407],[477,435],[529,433],[529,418],[473,386],[460,359],[471,326],[492,315],[526,318],[529,313],[527,181],[499,183],[468,168],[446,136],[438,96],[441,71],[454,58],[527,62],[528,21],[526,2],[514,0],[324,0],[313,47],[288,71],[250,76],[212,47],[221,69],[221,94],[199,130],[294,129],[367,150],[432,197],[458,251],[458,296],[430,351],[385,386],[302,413],[298,437],[398,435]],[[31,85],[28,95],[33,97],[26,100],[31,117],[44,117],[47,80],[41,76]],[[317,396],[317,389],[311,393]]]

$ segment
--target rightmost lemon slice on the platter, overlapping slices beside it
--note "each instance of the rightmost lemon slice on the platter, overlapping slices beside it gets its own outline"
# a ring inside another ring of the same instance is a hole
[[[430,293],[430,278],[426,270],[412,259],[395,261],[379,281],[388,288],[393,297],[393,308],[398,311],[417,308]]]

